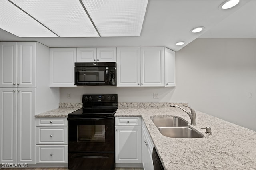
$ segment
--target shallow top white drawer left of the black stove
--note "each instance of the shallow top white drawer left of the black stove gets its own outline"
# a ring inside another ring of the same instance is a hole
[[[66,117],[36,118],[36,126],[68,126]]]

